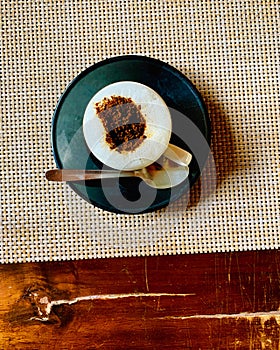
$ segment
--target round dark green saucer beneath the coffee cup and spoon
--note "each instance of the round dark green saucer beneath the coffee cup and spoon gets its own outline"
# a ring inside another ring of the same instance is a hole
[[[172,117],[171,143],[193,155],[189,178],[167,190],[154,190],[136,178],[71,183],[89,203],[115,213],[139,214],[167,206],[199,178],[210,152],[210,120],[193,84],[178,70],[144,56],[120,56],[97,63],[79,74],[61,96],[53,116],[52,147],[58,168],[98,169],[83,136],[83,116],[92,96],[117,81],[136,81],[154,89]]]

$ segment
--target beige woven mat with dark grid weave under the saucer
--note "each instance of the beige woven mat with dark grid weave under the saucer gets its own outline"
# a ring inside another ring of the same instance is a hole
[[[279,248],[279,10],[273,0],[2,1],[1,262]],[[67,84],[132,53],[200,90],[215,166],[189,200],[117,215],[44,172]]]

